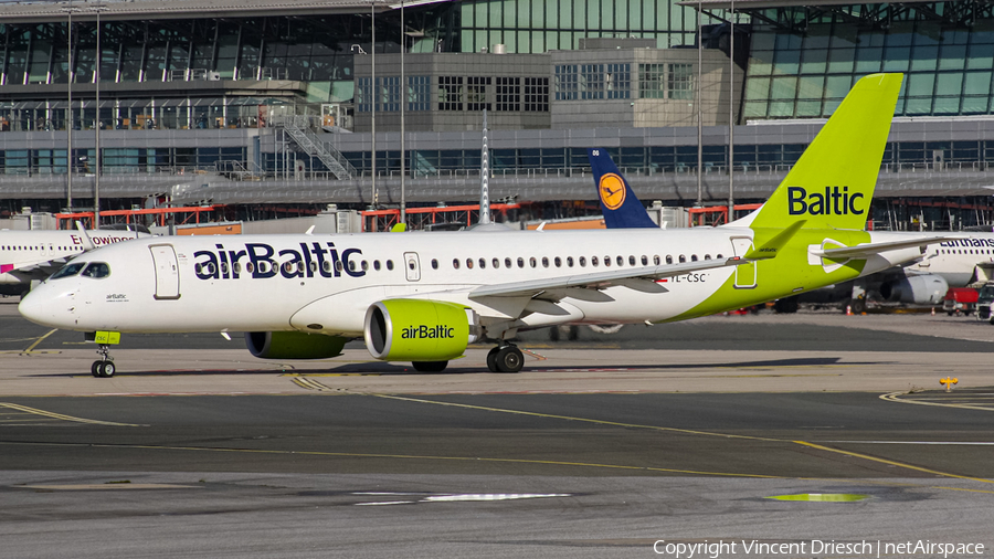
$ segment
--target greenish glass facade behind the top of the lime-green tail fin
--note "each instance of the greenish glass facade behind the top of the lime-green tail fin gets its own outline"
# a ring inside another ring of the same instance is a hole
[[[803,33],[753,17],[744,118],[827,117],[856,80],[876,72],[906,74],[897,116],[990,114],[994,20],[956,28],[921,10],[941,14],[942,6],[897,10],[886,25],[855,25],[845,10],[825,12]]]

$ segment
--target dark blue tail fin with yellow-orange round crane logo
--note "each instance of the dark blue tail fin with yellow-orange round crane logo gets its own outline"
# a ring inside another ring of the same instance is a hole
[[[607,150],[603,148],[588,149],[590,168],[593,170],[594,187],[598,189],[598,199],[601,201],[601,211],[604,212],[604,226],[607,229],[654,228],[655,222],[649,219],[645,207],[628,181],[617,170],[617,166],[611,160]]]

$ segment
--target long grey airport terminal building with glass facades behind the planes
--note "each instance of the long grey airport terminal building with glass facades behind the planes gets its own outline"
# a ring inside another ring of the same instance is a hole
[[[855,80],[903,72],[877,226],[992,221],[994,3],[731,8],[0,2],[0,211],[472,201],[484,110],[495,198],[591,199],[606,147],[647,201],[727,203],[733,122],[759,201]]]

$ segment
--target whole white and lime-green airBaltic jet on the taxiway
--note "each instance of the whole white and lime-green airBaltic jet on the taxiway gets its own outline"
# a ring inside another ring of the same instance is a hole
[[[489,369],[517,372],[521,329],[695,318],[920,256],[935,238],[864,231],[900,84],[860,80],[770,200],[726,226],[146,239],[74,260],[20,310],[89,333],[99,377],[120,333],[171,331],[245,331],[273,359],[334,357],[362,337],[421,371],[485,340]]]

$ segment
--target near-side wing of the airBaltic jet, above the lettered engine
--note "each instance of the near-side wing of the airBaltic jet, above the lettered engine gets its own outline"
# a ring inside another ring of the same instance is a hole
[[[569,276],[550,277],[544,280],[530,280],[527,282],[511,282],[505,284],[483,285],[469,292],[470,299],[482,297],[533,297],[550,289],[564,289],[568,287],[588,287],[602,289],[613,285],[623,285],[636,291],[647,293],[665,293],[667,289],[657,284],[656,280],[673,277],[705,270],[713,270],[726,266],[738,266],[749,261],[733,256],[722,260],[705,260],[699,262],[685,262],[680,264],[665,264],[659,266],[642,266],[611,272],[593,272],[590,274],[577,274]]]

